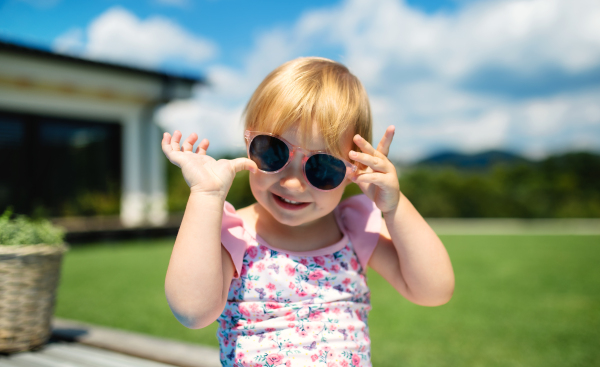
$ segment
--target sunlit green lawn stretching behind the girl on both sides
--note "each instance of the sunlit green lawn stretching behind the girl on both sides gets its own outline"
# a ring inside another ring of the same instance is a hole
[[[600,236],[443,236],[456,291],[420,307],[369,273],[375,366],[599,366]],[[163,290],[174,239],[74,247],[56,314],[217,346],[181,326]]]

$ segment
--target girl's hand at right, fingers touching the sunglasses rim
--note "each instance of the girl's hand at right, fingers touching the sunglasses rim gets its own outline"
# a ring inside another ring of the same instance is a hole
[[[383,214],[396,210],[400,201],[396,167],[387,158],[394,131],[394,126],[385,130],[377,149],[356,134],[353,140],[362,153],[351,150],[348,154],[350,159],[359,163],[359,171],[352,177],[352,181],[358,184]]]

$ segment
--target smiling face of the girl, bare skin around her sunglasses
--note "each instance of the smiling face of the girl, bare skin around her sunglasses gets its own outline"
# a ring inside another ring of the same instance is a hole
[[[325,140],[316,126],[310,133],[310,139],[306,140],[309,145],[302,147],[307,150],[325,150]],[[300,132],[296,129],[287,130],[281,136],[291,144],[301,146]],[[345,142],[344,157],[348,157],[352,148],[352,134],[347,134],[342,139]],[[303,154],[297,152],[290,163],[278,173],[266,174],[260,171],[250,173],[250,188],[258,203],[274,219],[288,226],[311,223],[331,213],[340,202],[344,189],[350,183],[348,179],[345,179],[333,190],[315,189],[304,178],[302,158]],[[302,204],[289,204],[282,198]]]

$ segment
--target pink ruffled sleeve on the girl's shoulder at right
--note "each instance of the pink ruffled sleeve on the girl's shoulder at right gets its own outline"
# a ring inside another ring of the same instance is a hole
[[[349,197],[335,210],[343,231],[354,246],[360,265],[366,271],[381,233],[381,210],[364,194]]]

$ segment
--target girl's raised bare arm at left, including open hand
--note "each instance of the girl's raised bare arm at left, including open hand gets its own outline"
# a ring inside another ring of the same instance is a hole
[[[192,152],[195,134],[180,150],[181,133],[162,140],[167,158],[181,167],[190,186],[190,197],[173,246],[165,278],[165,295],[175,317],[188,328],[203,328],[215,321],[227,301],[234,273],[229,253],[221,244],[221,219],[225,197],[235,173],[253,170],[246,158],[219,161],[206,155],[208,140]]]

